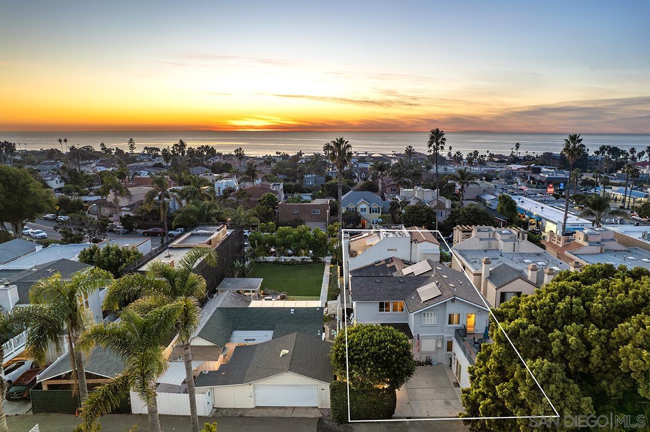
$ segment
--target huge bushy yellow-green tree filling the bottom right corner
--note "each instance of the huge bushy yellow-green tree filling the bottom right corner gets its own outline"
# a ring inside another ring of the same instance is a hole
[[[643,413],[650,402],[649,285],[643,267],[588,265],[494,310],[560,415]],[[490,339],[469,368],[461,416],[554,414],[495,325]],[[527,418],[467,424],[473,431],[529,430]]]

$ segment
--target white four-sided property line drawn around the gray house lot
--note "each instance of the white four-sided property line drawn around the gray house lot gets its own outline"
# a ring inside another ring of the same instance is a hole
[[[380,232],[380,231],[385,231],[385,232],[404,232],[404,230],[352,230],[350,228],[345,228],[341,230],[343,233],[345,232]],[[452,255],[452,259],[454,258],[454,250],[449,247],[449,244],[447,243],[447,240],[445,240],[445,237],[443,237],[442,234],[438,230],[406,230],[406,232],[431,232],[431,233],[437,233],[438,237],[441,238],[445,242],[445,246],[447,246],[450,254]],[[347,272],[345,271],[345,248],[343,247],[343,235],[341,235],[341,252],[342,252],[342,257],[343,257],[343,313],[345,314],[345,310],[347,309],[347,302],[346,302],[346,291],[345,291],[345,284],[346,284],[346,275]],[[456,258],[458,259],[458,258]],[[469,282],[472,284],[474,289],[476,290],[476,293],[478,296],[481,298],[485,306],[487,307],[487,311],[489,314],[492,316],[492,318],[495,320],[497,323],[497,326],[499,326],[499,329],[501,332],[505,335],[506,339],[508,339],[508,342],[510,342],[510,346],[512,346],[513,350],[515,350],[515,353],[517,353],[517,357],[519,357],[519,360],[521,360],[521,363],[525,366],[526,370],[528,371],[528,374],[532,377],[532,379],[535,381],[537,384],[537,387],[539,390],[541,390],[541,394],[544,395],[546,398],[547,402],[549,402],[549,405],[551,405],[551,408],[553,409],[553,412],[555,413],[554,416],[548,415],[548,416],[507,416],[507,417],[444,417],[444,418],[408,418],[408,419],[402,419],[402,418],[389,418],[387,420],[352,420],[351,415],[350,415],[350,362],[348,360],[348,321],[345,319],[346,315],[344,315],[344,328],[345,328],[345,374],[346,374],[346,385],[348,388],[348,422],[357,422],[357,423],[363,423],[363,422],[421,422],[425,420],[497,420],[497,419],[513,419],[513,418],[560,418],[560,414],[558,413],[558,410],[555,409],[555,406],[551,402],[551,399],[549,399],[549,396],[547,396],[546,392],[544,389],[541,388],[541,385],[539,385],[539,381],[537,378],[534,376],[530,368],[528,368],[528,365],[526,365],[526,362],[524,361],[523,357],[521,357],[521,354],[519,354],[519,350],[515,347],[515,345],[512,343],[510,340],[510,337],[508,336],[508,333],[506,333],[505,330],[503,330],[503,327],[501,326],[501,323],[499,320],[497,320],[497,317],[495,317],[494,313],[492,312],[491,306],[487,303],[487,300],[484,298],[483,294],[476,289],[476,285],[474,285],[474,282],[470,278],[467,278]]]

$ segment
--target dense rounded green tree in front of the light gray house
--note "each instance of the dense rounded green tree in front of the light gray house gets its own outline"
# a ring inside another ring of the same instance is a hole
[[[386,386],[399,389],[415,373],[411,342],[389,326],[356,324],[347,328],[347,359],[352,389]],[[341,335],[343,336],[343,335]],[[346,379],[346,339],[337,337],[331,349],[334,374]]]

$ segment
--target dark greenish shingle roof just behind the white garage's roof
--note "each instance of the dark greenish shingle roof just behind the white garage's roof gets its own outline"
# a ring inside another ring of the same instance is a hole
[[[322,326],[322,307],[217,307],[198,337],[218,346],[235,330],[273,330],[274,339],[295,331],[319,338]]]

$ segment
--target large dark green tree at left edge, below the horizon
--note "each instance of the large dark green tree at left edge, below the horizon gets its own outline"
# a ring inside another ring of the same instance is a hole
[[[18,238],[26,222],[54,208],[51,191],[27,170],[0,165],[0,230],[6,231],[5,223],[9,224]]]

